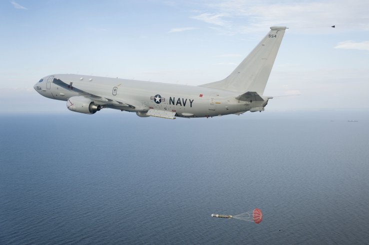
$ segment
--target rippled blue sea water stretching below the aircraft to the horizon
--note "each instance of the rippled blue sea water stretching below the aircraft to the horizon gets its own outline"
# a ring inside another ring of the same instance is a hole
[[[0,244],[368,244],[368,125],[1,115]],[[254,208],[260,224],[210,217]]]

